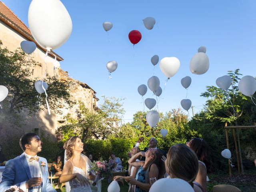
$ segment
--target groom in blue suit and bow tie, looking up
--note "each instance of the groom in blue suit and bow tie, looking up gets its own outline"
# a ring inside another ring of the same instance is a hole
[[[24,153],[6,163],[0,182],[0,192],[14,185],[19,186],[24,192],[34,192],[38,188],[39,192],[56,192],[49,182],[46,159],[37,156],[42,150],[42,143],[34,133],[27,133],[20,138],[20,147]]]

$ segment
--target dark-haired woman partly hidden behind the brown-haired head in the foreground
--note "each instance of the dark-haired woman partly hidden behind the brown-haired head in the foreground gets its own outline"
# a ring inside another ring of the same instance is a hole
[[[193,138],[186,145],[190,147],[197,155],[199,162],[199,170],[196,176],[196,182],[198,182],[207,191],[206,181],[208,181],[207,173],[211,170],[211,156],[210,148],[206,140],[202,138]]]

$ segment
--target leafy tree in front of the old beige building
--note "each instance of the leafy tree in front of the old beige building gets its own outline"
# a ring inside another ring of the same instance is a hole
[[[45,94],[41,96],[34,88],[35,79],[31,78],[31,66],[40,65],[33,58],[27,59],[25,52],[17,48],[14,52],[2,48],[0,42],[0,82],[8,88],[9,93],[3,102],[4,113],[20,113],[27,110],[29,113],[36,112],[38,108],[46,108]],[[72,105],[70,100],[68,82],[60,81],[56,76],[48,76],[44,79],[48,83],[48,102],[54,112],[60,108],[60,100]]]

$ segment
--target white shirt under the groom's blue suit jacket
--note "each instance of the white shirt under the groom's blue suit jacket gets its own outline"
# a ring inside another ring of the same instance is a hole
[[[30,155],[26,154],[25,152],[24,152],[24,155],[25,155],[26,160],[28,162],[28,167],[29,167],[29,170],[30,170],[31,177],[36,177],[37,174],[41,174],[41,178],[42,178],[42,171],[41,171],[41,168],[40,168],[40,165],[39,165],[38,161],[36,161],[36,160],[29,161],[30,157],[33,157],[33,156],[30,156]],[[37,155],[34,156],[34,157],[37,157]],[[26,188],[26,181],[24,181],[20,184],[20,189],[22,189],[24,192],[28,192],[28,189]],[[37,192],[38,189],[33,188],[32,191]],[[41,187],[39,188],[39,192],[41,192]]]

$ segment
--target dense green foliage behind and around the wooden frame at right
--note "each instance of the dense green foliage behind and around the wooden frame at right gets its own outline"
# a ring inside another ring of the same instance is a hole
[[[232,78],[232,85],[225,91],[215,86],[206,86],[206,92],[201,96],[209,98],[205,104],[205,110],[196,114],[189,122],[189,127],[202,134],[211,150],[213,170],[227,169],[227,160],[222,158],[221,151],[227,148],[226,134],[224,130],[225,122],[231,125],[253,125],[255,122],[256,107],[248,97],[241,94],[237,83],[240,80],[239,69],[228,71]],[[232,108],[232,104],[234,109]],[[243,162],[246,162],[246,150],[248,147],[255,149],[256,131],[255,129],[237,130],[240,132],[240,142]],[[236,151],[234,149],[234,138],[231,130],[229,133],[230,151],[232,153],[233,164],[237,168]],[[250,163],[249,163],[250,164]]]

